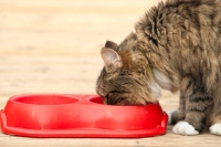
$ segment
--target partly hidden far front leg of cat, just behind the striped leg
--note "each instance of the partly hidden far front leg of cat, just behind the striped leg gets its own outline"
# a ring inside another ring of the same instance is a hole
[[[182,92],[180,92],[179,107],[177,111],[168,113],[169,119],[168,124],[177,124],[179,120],[183,120],[186,116],[186,97]]]

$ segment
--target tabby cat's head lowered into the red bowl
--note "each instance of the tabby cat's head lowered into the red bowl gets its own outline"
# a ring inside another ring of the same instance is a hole
[[[137,43],[131,33],[119,45],[107,41],[101,51],[105,66],[98,76],[96,92],[107,104],[144,105],[155,103],[160,96],[152,69]]]

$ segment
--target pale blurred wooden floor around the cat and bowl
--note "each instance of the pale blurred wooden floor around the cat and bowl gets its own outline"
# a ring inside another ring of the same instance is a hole
[[[95,94],[106,40],[119,43],[146,9],[159,0],[0,0],[0,109],[23,93]],[[165,111],[178,95],[164,92]],[[0,147],[190,147],[221,146],[207,130],[199,136],[167,134],[139,139],[27,138],[0,132]]]

